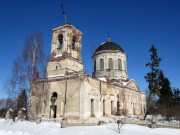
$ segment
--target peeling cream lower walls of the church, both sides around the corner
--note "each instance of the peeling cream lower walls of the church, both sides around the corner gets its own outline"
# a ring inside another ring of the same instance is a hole
[[[67,81],[67,85],[66,85]],[[44,84],[46,85],[44,85]],[[131,82],[129,86],[135,85],[135,82]],[[67,88],[66,88],[67,86]],[[44,116],[52,118],[50,116],[51,96],[53,92],[58,95],[57,105],[57,118],[65,116],[71,119],[88,119],[91,115],[91,99],[94,100],[94,116],[103,117],[111,116],[117,113],[117,102],[120,101],[120,113],[121,115],[140,115],[144,114],[145,94],[141,93],[137,87],[120,87],[113,84],[102,82],[98,79],[91,78],[89,76],[81,75],[77,78],[68,80],[54,80],[41,81],[41,83],[32,83],[31,87],[31,113],[34,117]],[[35,91],[41,91],[44,88],[48,91],[48,96],[37,96]],[[67,91],[66,91],[67,90]],[[65,104],[66,93],[66,104]],[[35,113],[37,99],[40,102],[40,108],[44,110],[38,110],[38,115]],[[46,99],[44,104],[44,100]],[[103,115],[103,100],[105,100],[105,115]],[[65,104],[65,106],[64,106]],[[112,107],[111,107],[112,105]],[[111,109],[112,108],[112,109]],[[64,110],[65,109],[65,115]],[[112,111],[112,113],[111,113]]]

